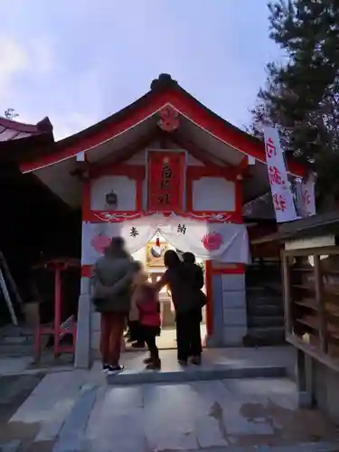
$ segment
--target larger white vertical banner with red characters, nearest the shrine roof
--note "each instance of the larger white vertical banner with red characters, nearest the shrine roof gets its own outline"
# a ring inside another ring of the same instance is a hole
[[[297,220],[278,130],[275,127],[264,127],[264,137],[268,179],[277,222]]]

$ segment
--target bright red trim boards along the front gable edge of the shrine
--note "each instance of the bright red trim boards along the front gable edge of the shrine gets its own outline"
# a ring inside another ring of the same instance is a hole
[[[228,127],[221,118],[213,118],[211,112],[199,107],[195,99],[185,96],[183,91],[170,88],[163,92],[153,91],[146,106],[137,108],[136,102],[133,111],[127,118],[120,121],[113,121],[104,129],[93,133],[91,137],[79,138],[73,145],[63,147],[52,155],[45,155],[41,160],[25,163],[21,165],[21,170],[24,173],[33,171],[42,166],[52,165],[62,159],[77,155],[80,151],[87,151],[94,146],[98,146],[100,143],[126,132],[128,128],[135,127],[137,123],[152,116],[160,108],[165,107],[167,103],[170,103],[179,112],[184,114],[184,116],[190,118],[198,127],[204,128],[227,145],[240,150],[244,154],[251,155],[262,162],[266,162],[265,147],[262,142],[256,143],[240,130]],[[306,169],[296,162],[289,162],[287,166],[294,174],[299,176],[306,174]]]

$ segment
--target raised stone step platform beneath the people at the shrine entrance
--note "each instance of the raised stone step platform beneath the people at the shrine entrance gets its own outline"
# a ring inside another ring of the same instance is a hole
[[[264,349],[205,349],[201,366],[180,366],[176,351],[160,351],[162,370],[145,371],[143,360],[147,352],[124,353],[126,370],[107,377],[108,384],[133,385],[143,383],[178,383],[184,381],[214,381],[229,378],[294,378],[294,358],[290,347]]]

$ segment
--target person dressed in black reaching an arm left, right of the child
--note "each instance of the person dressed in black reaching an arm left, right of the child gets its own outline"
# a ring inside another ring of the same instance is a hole
[[[198,275],[198,266],[195,264],[182,262],[174,250],[165,252],[164,261],[167,269],[156,282],[155,288],[160,290],[168,285],[171,290],[175,309],[178,362],[186,365],[188,358],[192,356],[192,362],[200,364],[202,308],[196,294],[203,286],[203,275],[202,278]]]

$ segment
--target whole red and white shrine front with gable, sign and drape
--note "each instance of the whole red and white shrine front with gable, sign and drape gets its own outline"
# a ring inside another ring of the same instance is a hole
[[[290,174],[304,169],[287,162]],[[112,236],[140,250],[155,236],[206,262],[207,344],[247,334],[245,202],[268,191],[263,142],[231,126],[169,75],[127,108],[21,163],[82,211],[82,278],[76,365],[97,347],[99,319],[89,297],[90,268]],[[74,240],[77,240],[76,238]]]

